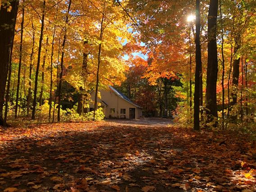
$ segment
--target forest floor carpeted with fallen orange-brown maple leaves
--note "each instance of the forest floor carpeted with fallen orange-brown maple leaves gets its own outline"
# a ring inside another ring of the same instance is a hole
[[[0,191],[253,192],[256,146],[242,133],[167,124],[1,128]]]

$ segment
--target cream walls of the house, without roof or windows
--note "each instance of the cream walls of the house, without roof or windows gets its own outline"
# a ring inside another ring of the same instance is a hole
[[[123,100],[119,96],[115,95],[115,93],[111,90],[101,90],[101,99],[98,98],[99,101],[104,101],[108,106],[105,106],[105,118],[121,118],[120,110],[125,109],[125,117],[129,119],[129,108],[136,108],[136,119],[142,116],[142,110],[138,109],[136,106],[132,105],[128,101]],[[95,91],[91,92],[91,100],[94,101]],[[90,107],[94,108],[94,103],[90,103]],[[110,114],[110,108],[114,108],[114,114]]]

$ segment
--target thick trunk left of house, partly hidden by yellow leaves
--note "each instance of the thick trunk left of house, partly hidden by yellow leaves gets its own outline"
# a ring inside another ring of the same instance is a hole
[[[83,45],[85,46],[88,43],[87,40],[83,41]],[[88,53],[84,52],[82,56],[82,78],[83,81],[86,81],[87,77],[87,60],[88,60]],[[83,113],[83,88],[82,86],[79,87],[79,94],[78,94],[78,114]]]

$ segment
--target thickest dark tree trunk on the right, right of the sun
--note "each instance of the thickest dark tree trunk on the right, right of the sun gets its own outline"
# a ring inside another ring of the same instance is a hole
[[[218,0],[210,0],[208,14],[208,60],[207,60],[207,78],[206,78],[206,113],[208,120],[218,117],[216,86],[218,76],[218,56],[217,56],[217,14]]]

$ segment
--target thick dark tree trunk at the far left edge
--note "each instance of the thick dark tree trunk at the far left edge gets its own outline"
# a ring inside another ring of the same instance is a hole
[[[10,11],[9,6],[5,6],[4,4],[0,7],[0,125],[4,124],[3,105],[5,102],[5,86],[17,18],[18,2],[18,0],[9,1],[10,6],[12,6]]]

